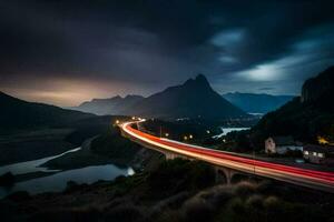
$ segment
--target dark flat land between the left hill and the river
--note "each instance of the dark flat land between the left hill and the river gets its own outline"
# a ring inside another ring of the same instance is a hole
[[[0,135],[0,167],[42,159],[78,148],[97,134],[106,132],[117,120],[126,117],[104,115],[78,120],[59,128],[29,129]]]

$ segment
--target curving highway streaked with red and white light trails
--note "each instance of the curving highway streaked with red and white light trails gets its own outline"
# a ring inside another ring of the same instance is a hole
[[[165,138],[158,138],[132,128],[138,121],[119,124],[124,137],[144,147],[164,153],[173,153],[189,159],[202,160],[217,167],[237,172],[256,174],[302,186],[334,193],[334,173],[289,167],[268,161],[238,157],[229,152],[217,151],[198,145],[191,145]]]

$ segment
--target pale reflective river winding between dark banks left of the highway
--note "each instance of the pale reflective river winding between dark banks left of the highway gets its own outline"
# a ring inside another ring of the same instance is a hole
[[[66,188],[68,181],[89,184],[99,180],[110,181],[119,175],[131,175],[135,173],[132,168],[130,167],[121,168],[115,164],[89,165],[67,171],[49,170],[47,168],[40,167],[41,164],[52,159],[66,155],[71,152],[77,152],[79,150],[81,150],[81,148],[76,148],[58,155],[1,167],[0,175],[6,172],[11,172],[14,175],[33,172],[53,172],[53,174],[18,182],[10,188],[0,188],[0,198],[3,198],[16,191],[28,191],[30,194],[50,191],[62,191]]]

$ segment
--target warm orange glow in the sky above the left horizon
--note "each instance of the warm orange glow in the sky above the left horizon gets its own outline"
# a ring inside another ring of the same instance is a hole
[[[28,87],[27,87],[28,85]],[[140,88],[128,82],[102,82],[91,80],[55,79],[49,82],[30,85],[13,85],[0,90],[12,97],[30,102],[41,102],[58,107],[76,107],[95,98],[111,98],[128,94],[128,89],[140,94]]]

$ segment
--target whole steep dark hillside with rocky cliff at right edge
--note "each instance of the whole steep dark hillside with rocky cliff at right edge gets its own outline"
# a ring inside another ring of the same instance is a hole
[[[308,79],[303,84],[302,97],[266,114],[253,133],[264,139],[268,135],[293,135],[315,142],[317,137],[334,138],[334,67]]]

